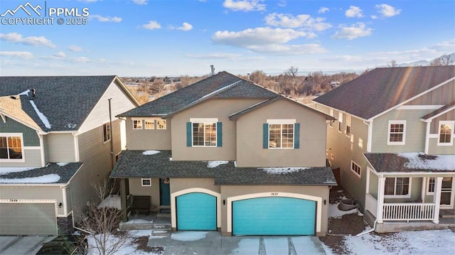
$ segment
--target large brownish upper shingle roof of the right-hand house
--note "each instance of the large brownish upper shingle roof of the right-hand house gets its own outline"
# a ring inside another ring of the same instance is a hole
[[[455,77],[455,66],[376,68],[314,99],[370,119]]]

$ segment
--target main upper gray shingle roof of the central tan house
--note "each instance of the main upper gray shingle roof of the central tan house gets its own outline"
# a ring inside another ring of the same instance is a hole
[[[166,116],[210,98],[270,98],[278,96],[279,94],[269,89],[259,87],[253,82],[223,71],[118,116]]]

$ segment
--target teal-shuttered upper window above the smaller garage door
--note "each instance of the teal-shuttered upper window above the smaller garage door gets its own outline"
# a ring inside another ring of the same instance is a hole
[[[186,146],[221,147],[222,124],[216,118],[192,118],[186,124]]]

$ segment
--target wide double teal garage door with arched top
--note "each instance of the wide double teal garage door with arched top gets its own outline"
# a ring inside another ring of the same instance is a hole
[[[314,235],[315,227],[315,201],[258,197],[232,202],[235,235]]]

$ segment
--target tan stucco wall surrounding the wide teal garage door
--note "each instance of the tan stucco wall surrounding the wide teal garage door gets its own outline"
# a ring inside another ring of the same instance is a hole
[[[325,236],[328,226],[328,186],[291,186],[291,185],[274,185],[274,186],[264,186],[264,185],[223,185],[221,186],[221,200],[228,201],[229,197],[235,197],[239,195],[253,195],[255,193],[294,193],[300,195],[309,195],[313,197],[321,197],[321,231],[316,232],[318,236]],[[326,200],[326,205],[323,201]],[[223,234],[227,233],[228,230],[228,210],[227,205],[221,205],[221,218],[222,225],[221,231]],[[279,212],[277,212],[279,213]]]

